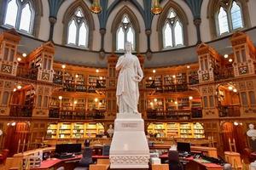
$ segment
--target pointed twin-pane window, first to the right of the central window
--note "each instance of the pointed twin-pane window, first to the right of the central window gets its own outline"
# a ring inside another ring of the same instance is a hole
[[[183,23],[173,8],[166,17],[166,24],[162,28],[163,48],[177,48],[184,45]]]

